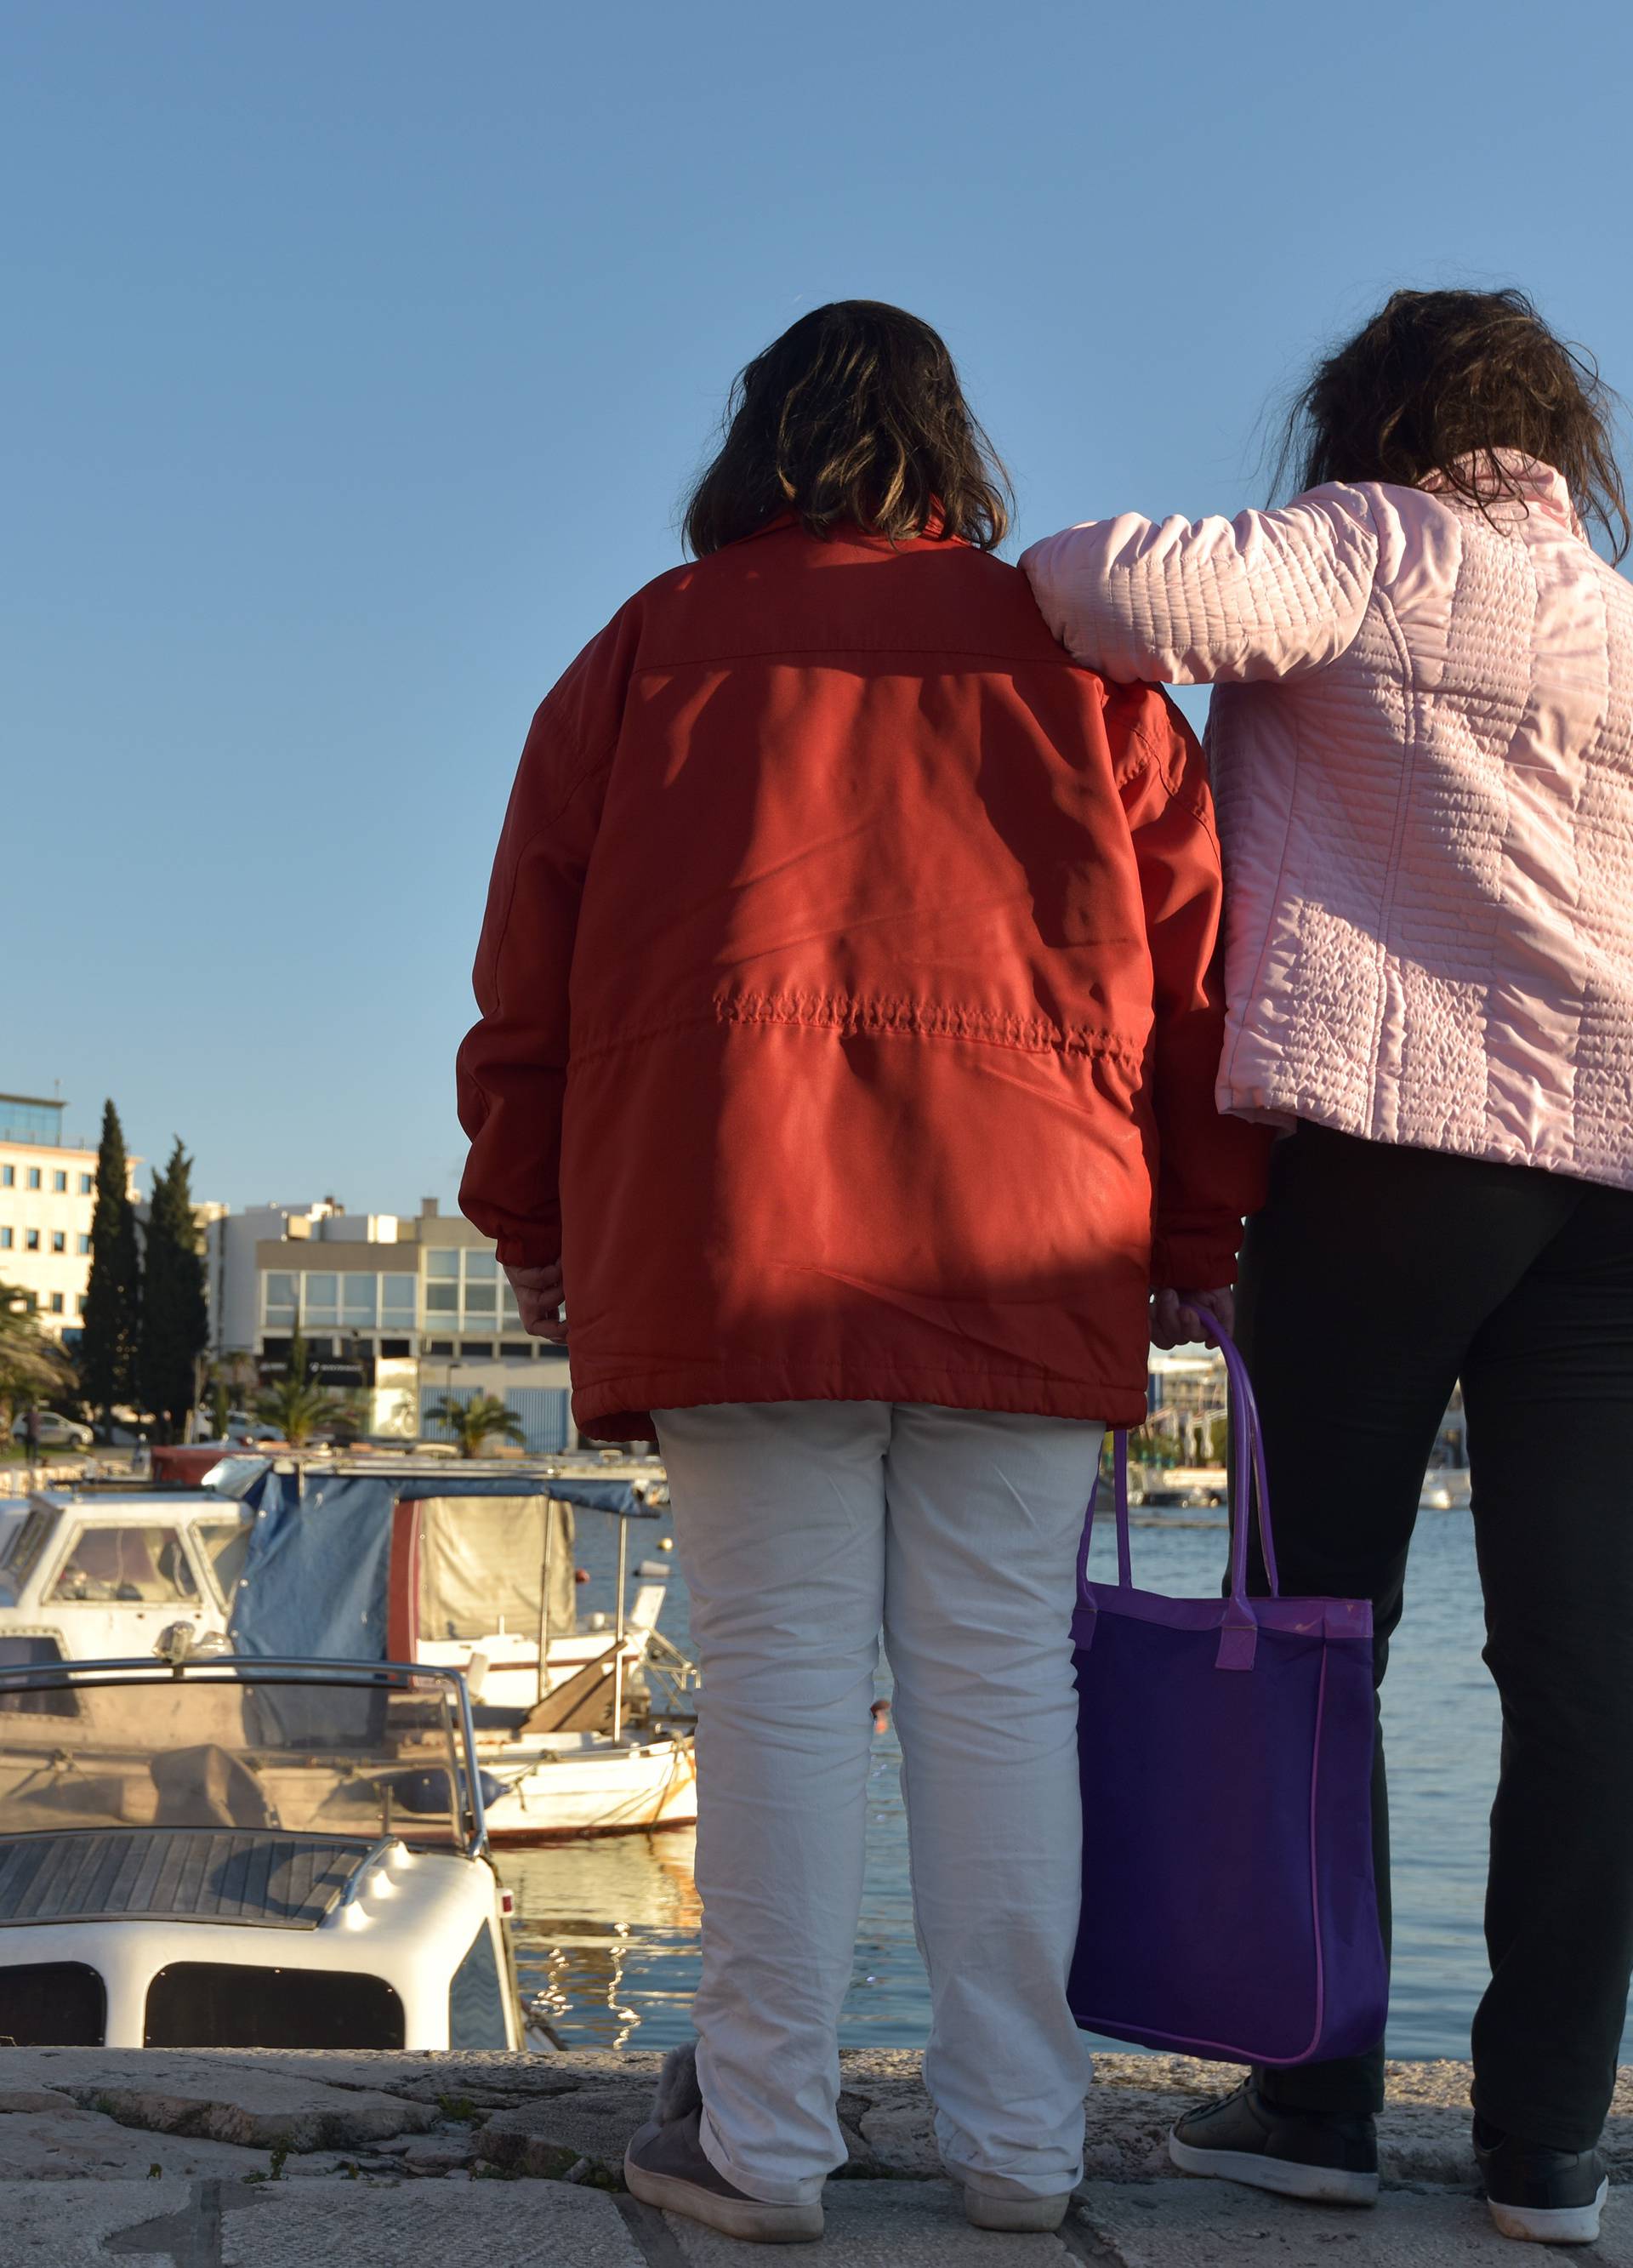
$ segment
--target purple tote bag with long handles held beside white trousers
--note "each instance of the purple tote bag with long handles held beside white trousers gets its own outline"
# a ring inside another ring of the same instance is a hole
[[[1077,1567],[1084,1903],[1071,2007],[1089,2032],[1238,2064],[1359,2055],[1384,2037],[1372,1882],[1372,1606],[1284,1599],[1247,1368],[1232,1388],[1227,1599],[1161,1599],[1129,1565],[1116,1440],[1118,1581]],[[1247,1597],[1247,1526],[1270,1597]]]

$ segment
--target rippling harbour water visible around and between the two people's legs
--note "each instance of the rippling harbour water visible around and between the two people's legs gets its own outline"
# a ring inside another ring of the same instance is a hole
[[[612,1522],[583,1515],[578,1563],[592,1583],[583,1613],[612,1606]],[[653,1547],[669,1529],[633,1529],[631,1565],[669,1558]],[[1095,1538],[1095,1567],[1100,1567]],[[1109,1545],[1109,1538],[1105,1538]],[[1225,1563],[1222,1529],[1145,1526],[1134,1533],[1143,1590],[1209,1597]],[[662,1624],[687,1644],[687,1594],[671,1576]],[[1411,1556],[1406,1619],[1390,1649],[1384,1721],[1395,1842],[1395,1975],[1390,2055],[1465,2057],[1474,2003],[1486,1984],[1481,1903],[1486,1821],[1497,1785],[1499,1712],[1481,1662],[1481,1597],[1467,1513],[1424,1513]],[[889,1672],[880,1672],[880,1692]],[[869,1869],[855,1975],[841,2043],[921,2048],[928,1987],[912,1932],[900,1751],[880,1735],[869,1801]],[[517,1896],[524,1996],[569,2046],[667,2048],[687,2037],[699,1973],[694,1837],[617,1835],[499,1862]],[[1633,2062],[1633,2028],[1622,2048]]]

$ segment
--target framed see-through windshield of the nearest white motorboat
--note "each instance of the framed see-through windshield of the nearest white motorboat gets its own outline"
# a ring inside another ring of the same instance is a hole
[[[327,1667],[0,1669],[0,1837],[259,1828],[479,1848],[458,1681]]]

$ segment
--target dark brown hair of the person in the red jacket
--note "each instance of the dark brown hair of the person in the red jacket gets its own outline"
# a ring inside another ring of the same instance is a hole
[[[853,522],[891,542],[934,531],[991,551],[1009,503],[930,324],[878,299],[832,299],[737,374],[685,540],[703,558],[794,510],[812,535]]]

